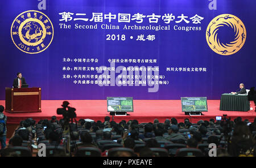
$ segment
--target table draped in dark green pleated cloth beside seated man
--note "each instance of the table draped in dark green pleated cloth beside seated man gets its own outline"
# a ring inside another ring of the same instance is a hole
[[[250,102],[247,95],[224,93],[221,95],[220,110],[249,111]]]

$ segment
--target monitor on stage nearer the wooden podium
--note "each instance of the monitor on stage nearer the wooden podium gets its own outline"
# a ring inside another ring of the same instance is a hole
[[[107,97],[108,111],[133,112],[133,97]]]

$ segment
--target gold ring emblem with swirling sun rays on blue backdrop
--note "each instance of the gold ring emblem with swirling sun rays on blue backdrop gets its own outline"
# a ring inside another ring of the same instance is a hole
[[[237,53],[246,39],[246,29],[237,16],[222,14],[210,21],[206,31],[207,43],[215,53],[231,55]]]

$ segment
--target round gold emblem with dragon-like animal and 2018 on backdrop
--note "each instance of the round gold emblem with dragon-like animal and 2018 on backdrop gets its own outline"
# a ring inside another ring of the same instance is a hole
[[[22,12],[11,24],[11,39],[15,46],[24,53],[40,53],[46,50],[52,42],[52,22],[40,11]]]

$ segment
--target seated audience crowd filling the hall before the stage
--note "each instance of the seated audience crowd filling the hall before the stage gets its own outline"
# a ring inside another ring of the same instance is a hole
[[[117,123],[110,121],[108,116],[104,118],[103,123],[100,120],[95,122],[94,120],[80,119],[77,125],[70,124],[71,144],[77,143],[78,149],[81,147],[98,148],[98,141],[107,140],[120,143],[123,148],[133,150],[138,141],[144,141],[145,147],[137,154],[139,156],[158,156],[158,153],[152,152],[150,148],[160,148],[159,141],[185,144],[188,150],[197,148],[204,154],[205,151],[200,148],[199,144],[214,143],[217,145],[217,156],[256,156],[254,132],[256,131],[256,118],[254,122],[250,123],[247,119],[242,120],[241,117],[237,117],[234,122],[230,121],[228,126],[222,120],[215,122],[214,119],[199,120],[197,124],[192,124],[187,118],[180,123],[175,118],[166,119],[164,123],[154,119],[153,123],[139,123],[138,120],[127,122],[122,120]],[[65,145],[62,135],[63,124],[64,120],[60,119],[58,122],[55,116],[51,120],[44,119],[38,123],[32,118],[23,120],[15,131],[15,135],[9,140],[9,145],[2,149],[1,156],[19,156],[11,147],[24,147],[27,142],[33,144],[48,140],[47,145],[49,146],[60,145],[63,147]],[[28,145],[27,147],[31,148]],[[75,145],[72,145],[72,148],[73,152],[77,151]],[[108,150],[101,153],[102,156],[107,156],[107,154]],[[129,151],[117,151],[114,156],[133,156],[133,154]]]

